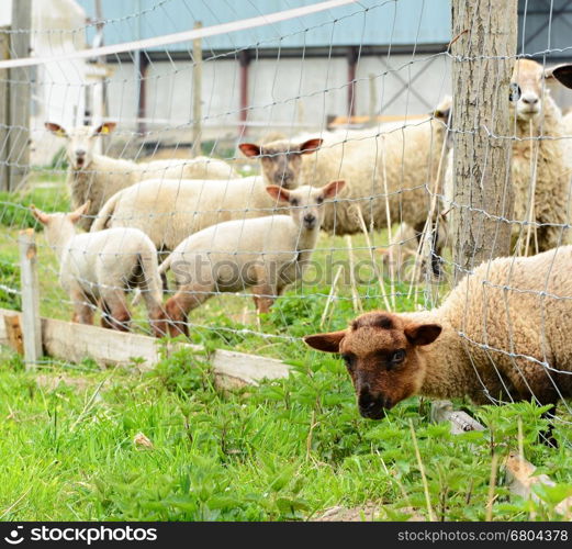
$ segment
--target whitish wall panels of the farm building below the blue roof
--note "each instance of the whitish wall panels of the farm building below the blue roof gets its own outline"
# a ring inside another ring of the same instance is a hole
[[[450,67],[445,56],[394,55],[362,57],[356,70],[356,114],[369,114],[369,75],[377,76],[375,110],[382,114],[425,114],[450,93]],[[433,60],[431,60],[433,59]],[[427,67],[428,66],[428,67]],[[120,127],[136,128],[137,89],[133,65],[121,63],[108,86],[110,116]],[[427,67],[427,68],[426,68]],[[424,70],[426,68],[426,70]],[[216,59],[203,65],[204,137],[236,136],[239,123],[238,61]],[[418,77],[417,77],[418,75]],[[405,82],[420,96],[407,91]],[[348,67],[344,57],[253,59],[248,70],[250,135],[268,131],[292,134],[317,130],[328,115],[347,114]],[[396,100],[385,107],[396,94]],[[182,127],[192,123],[192,64],[154,61],[146,77],[148,130]],[[383,107],[383,109],[381,109]]]

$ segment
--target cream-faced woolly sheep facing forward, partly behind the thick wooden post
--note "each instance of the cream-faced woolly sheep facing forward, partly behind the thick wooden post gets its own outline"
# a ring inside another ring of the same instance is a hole
[[[537,223],[536,238],[530,238],[538,251],[557,246],[567,224],[572,155],[567,154],[567,134],[562,114],[546,87],[546,79],[557,78],[572,87],[570,65],[545,69],[531,59],[518,59],[513,71],[511,114],[515,136],[513,142],[512,180],[515,194],[514,215],[517,222]],[[446,209],[452,204],[452,153],[445,178]],[[452,206],[452,211],[456,208]],[[528,239],[526,226],[515,223],[520,237]],[[525,246],[526,248],[526,246]]]

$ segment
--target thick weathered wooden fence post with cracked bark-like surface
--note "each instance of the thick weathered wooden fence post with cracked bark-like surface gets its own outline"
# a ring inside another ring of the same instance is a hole
[[[456,277],[508,255],[514,193],[509,82],[517,0],[452,0],[453,242]],[[501,220],[500,220],[501,219]]]

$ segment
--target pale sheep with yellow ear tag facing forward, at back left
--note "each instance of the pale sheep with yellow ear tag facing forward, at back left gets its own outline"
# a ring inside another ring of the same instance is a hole
[[[136,164],[132,160],[111,158],[93,153],[96,138],[109,134],[114,122],[93,126],[78,126],[66,132],[59,124],[46,122],[46,128],[67,139],[66,155],[69,163],[67,184],[71,190],[72,208],[90,201],[91,205],[79,226],[89,231],[93,217],[115,192],[144,179],[231,179],[237,177],[223,160],[198,157],[189,160],[156,160]]]

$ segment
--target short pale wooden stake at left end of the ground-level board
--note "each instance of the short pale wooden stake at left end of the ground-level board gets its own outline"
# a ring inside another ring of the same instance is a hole
[[[40,320],[40,283],[37,249],[33,228],[20,231],[20,281],[22,285],[22,332],[26,369],[42,357],[42,322]]]

